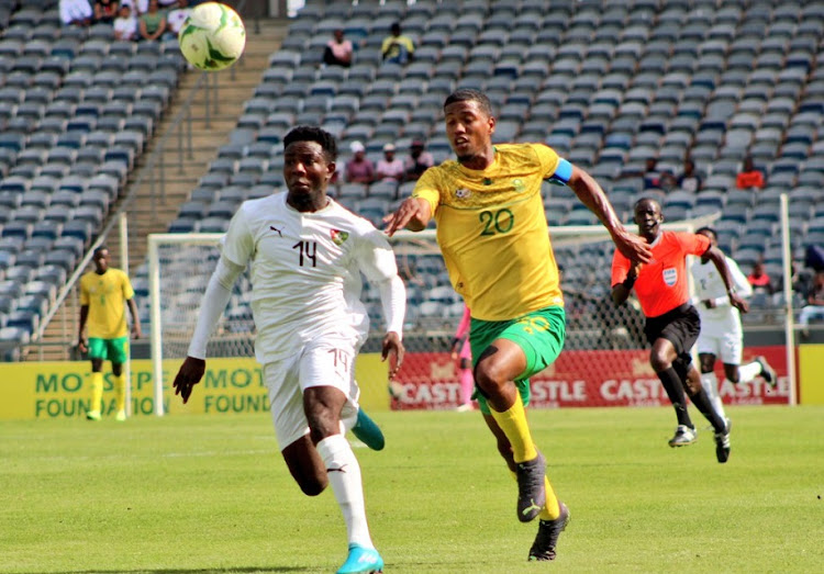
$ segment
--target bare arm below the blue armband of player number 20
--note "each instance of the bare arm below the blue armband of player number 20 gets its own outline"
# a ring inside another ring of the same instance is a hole
[[[575,191],[589,210],[594,213],[599,221],[610,232],[612,241],[621,254],[634,262],[647,263],[652,260],[649,245],[637,235],[631,233],[621,223],[615,210],[612,207],[606,193],[601,185],[592,179],[592,176],[582,169],[572,166],[572,175],[567,183]]]

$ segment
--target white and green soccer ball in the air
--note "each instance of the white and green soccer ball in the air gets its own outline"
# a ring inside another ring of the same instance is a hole
[[[196,5],[177,36],[183,57],[201,70],[218,71],[237,61],[246,29],[237,12],[219,2]]]

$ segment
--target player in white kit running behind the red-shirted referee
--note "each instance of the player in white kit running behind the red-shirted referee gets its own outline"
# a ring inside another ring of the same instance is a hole
[[[717,247],[719,239],[711,227],[702,227],[695,233],[706,236],[712,246]],[[753,288],[738,265],[726,257],[726,266],[738,294],[743,297],[751,295]],[[730,295],[715,266],[702,257],[692,265],[692,278],[695,281],[695,307],[701,316],[701,333],[695,344],[701,362],[701,385],[715,409],[726,418],[715,376],[716,357],[724,363],[724,376],[731,383],[748,383],[761,375],[767,383],[775,386],[776,372],[764,357],[756,357],[755,361],[741,364],[744,350],[741,314],[730,304]]]

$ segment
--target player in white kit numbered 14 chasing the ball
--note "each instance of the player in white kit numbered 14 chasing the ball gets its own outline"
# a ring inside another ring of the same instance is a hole
[[[263,364],[283,459],[307,495],[332,483],[349,542],[338,574],[380,572],[383,561],[366,521],[360,468],[344,434],[364,424],[354,379],[355,357],[368,330],[360,273],[380,292],[387,320],[382,357],[392,359],[390,379],[403,360],[405,291],[385,234],[326,196],[337,157],[334,137],[299,126],[283,138],[283,147],[288,192],[244,202],[232,218],[175,392],[186,403],[202,378],[209,335],[235,280],[249,266],[255,356]],[[379,444],[369,430],[356,436],[382,448],[374,423]]]

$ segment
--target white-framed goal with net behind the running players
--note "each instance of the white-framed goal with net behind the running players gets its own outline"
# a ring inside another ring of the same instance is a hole
[[[665,228],[693,230],[712,218],[666,224]],[[579,396],[583,392],[581,385],[602,380],[604,373],[632,379],[636,385],[639,375],[648,374],[648,379],[657,381],[652,371],[646,373],[644,317],[637,302],[631,297],[619,308],[612,304],[610,268],[614,246],[606,230],[600,225],[560,226],[550,227],[550,236],[563,270],[567,339],[561,358],[533,382],[535,406],[568,404],[561,399],[564,396]],[[220,257],[221,237],[222,234],[197,233],[149,236],[156,404],[162,403],[163,360],[186,357],[209,278]],[[409,353],[398,385],[390,389],[398,395],[393,396],[392,406],[453,408],[459,404],[459,384],[449,346],[464,303],[449,284],[433,229],[400,232],[392,238],[392,245],[408,291],[404,344]],[[235,283],[232,299],[210,339],[209,357],[254,357],[255,325],[248,304],[247,273],[248,270]],[[365,281],[361,300],[371,318],[371,336],[364,351],[379,351],[383,317],[378,290]],[[636,354],[627,352],[633,350]],[[621,383],[614,386],[609,392],[620,393]],[[649,384],[649,392],[657,393],[659,386]],[[441,399],[421,404],[416,394],[431,394],[435,392],[433,389],[443,393]]]

